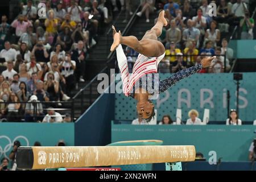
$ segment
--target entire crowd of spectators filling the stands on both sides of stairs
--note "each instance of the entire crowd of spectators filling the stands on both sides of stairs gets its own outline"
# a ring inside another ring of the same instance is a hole
[[[38,12],[40,2],[46,5],[45,17]],[[209,15],[212,2],[217,5],[217,16]],[[125,11],[123,22],[127,22],[136,3],[141,3],[138,18],[146,16],[146,22],[151,21],[151,13],[166,12],[168,26],[159,37],[166,57],[159,72],[176,73],[212,55],[217,59],[201,73],[227,72],[234,59],[228,47],[230,32],[238,27],[239,38],[253,39],[251,1],[22,0],[15,19],[1,17],[0,119],[63,120],[67,114],[59,116],[54,108],[70,100],[72,90],[86,80],[85,61],[102,28],[109,26],[115,11]],[[127,47],[126,55],[134,63],[138,53]],[[52,101],[56,103],[47,104]],[[46,115],[53,117],[44,119]]]

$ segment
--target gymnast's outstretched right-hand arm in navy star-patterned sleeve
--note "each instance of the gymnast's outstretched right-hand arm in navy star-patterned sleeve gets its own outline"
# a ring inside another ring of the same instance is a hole
[[[176,84],[176,82],[179,82],[183,78],[187,78],[197,72],[199,72],[202,68],[207,68],[212,63],[212,60],[215,59],[214,57],[205,58],[201,61],[201,64],[197,64],[195,67],[183,69],[171,77],[166,78],[163,81],[159,82],[159,93],[162,93],[166,91],[168,88],[170,88],[172,85]]]

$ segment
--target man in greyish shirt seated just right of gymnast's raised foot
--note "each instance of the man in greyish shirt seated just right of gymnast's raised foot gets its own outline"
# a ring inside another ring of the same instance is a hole
[[[176,27],[176,21],[173,19],[170,23],[171,27],[166,32],[166,47],[169,47],[171,42],[174,42],[180,48],[181,31]]]

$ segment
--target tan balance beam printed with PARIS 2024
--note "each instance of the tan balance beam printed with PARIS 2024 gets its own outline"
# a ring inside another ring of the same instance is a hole
[[[117,166],[194,161],[194,146],[19,147],[18,169]]]

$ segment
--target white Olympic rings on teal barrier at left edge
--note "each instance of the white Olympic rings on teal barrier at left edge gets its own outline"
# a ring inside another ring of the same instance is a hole
[[[26,145],[23,144],[22,146],[29,146],[29,144],[30,144],[29,141],[28,141],[28,139],[27,139],[26,137],[22,136],[22,135],[15,137],[15,138],[13,139],[13,141],[12,141],[9,137],[7,137],[7,136],[5,136],[5,135],[0,136],[0,139],[6,139],[7,142],[8,142],[8,144],[7,144],[4,148],[0,145],[0,159],[2,158],[2,155],[3,155],[5,158],[8,158],[8,159],[9,159],[9,155],[7,154],[7,152],[9,152],[9,151],[11,150],[11,147],[13,147],[13,143],[14,143],[16,140],[18,140],[18,139],[23,139],[23,140],[25,140],[25,141],[26,141]]]

